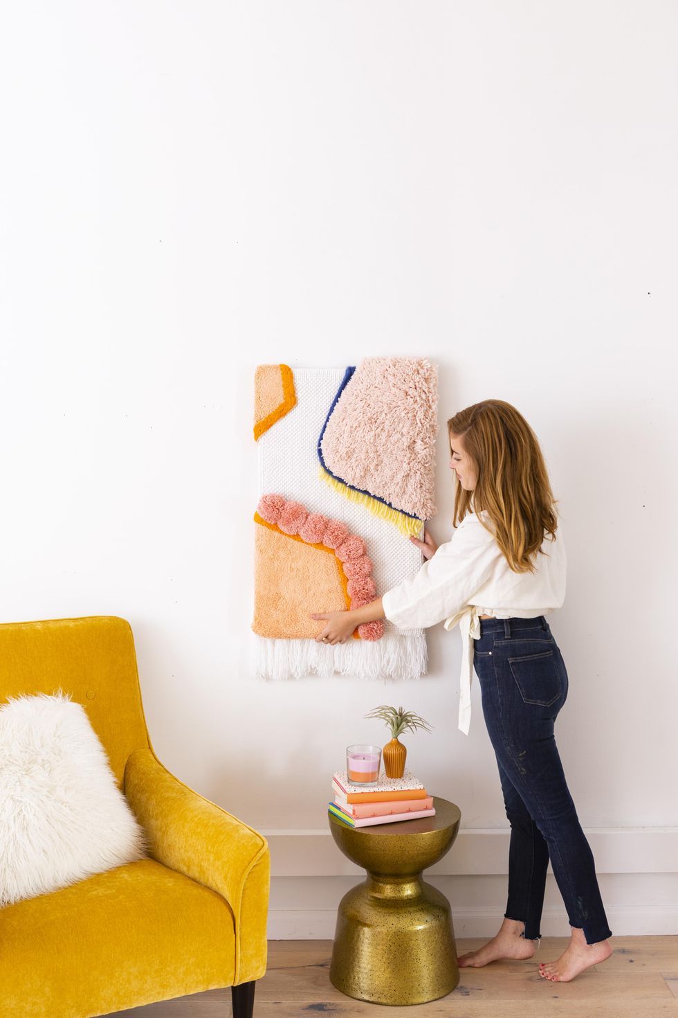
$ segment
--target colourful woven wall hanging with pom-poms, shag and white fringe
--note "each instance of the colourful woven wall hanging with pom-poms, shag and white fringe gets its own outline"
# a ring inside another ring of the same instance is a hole
[[[436,366],[261,364],[254,388],[256,674],[419,678],[423,630],[373,622],[327,645],[310,615],[367,604],[421,567],[409,535],[436,512]]]

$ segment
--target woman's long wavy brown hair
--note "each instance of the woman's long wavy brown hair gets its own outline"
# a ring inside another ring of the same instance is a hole
[[[457,485],[453,525],[468,512],[487,510],[491,532],[513,572],[535,572],[532,556],[545,535],[556,540],[559,500],[532,428],[510,403],[484,399],[450,417],[447,435],[450,444],[452,435],[460,436],[477,472],[475,491]]]

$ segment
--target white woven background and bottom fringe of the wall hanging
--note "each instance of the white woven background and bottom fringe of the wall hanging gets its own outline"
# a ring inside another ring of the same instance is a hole
[[[372,575],[380,597],[419,570],[421,553],[392,523],[345,498],[319,475],[317,442],[345,369],[295,367],[293,374],[297,405],[257,442],[259,496],[294,499],[309,512],[342,520],[352,533],[363,538],[374,563]],[[332,674],[414,679],[425,675],[424,631],[403,632],[390,622],[384,626],[380,640],[353,639],[334,646],[253,634],[256,674],[266,679]]]

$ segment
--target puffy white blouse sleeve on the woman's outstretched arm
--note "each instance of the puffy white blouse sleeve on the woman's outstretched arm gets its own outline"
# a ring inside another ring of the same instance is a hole
[[[385,617],[399,629],[424,629],[469,603],[493,575],[501,551],[492,533],[467,516],[419,572],[382,596]]]

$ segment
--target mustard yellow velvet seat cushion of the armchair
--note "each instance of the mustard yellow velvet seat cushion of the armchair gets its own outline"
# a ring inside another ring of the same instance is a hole
[[[0,1018],[90,1018],[233,984],[221,895],[141,859],[0,909]]]

